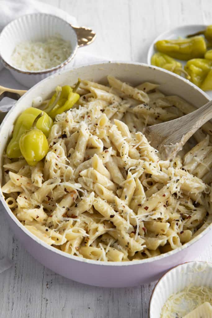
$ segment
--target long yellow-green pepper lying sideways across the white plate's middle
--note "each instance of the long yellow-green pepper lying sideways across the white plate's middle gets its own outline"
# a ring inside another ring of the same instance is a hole
[[[202,58],[206,52],[205,39],[197,36],[188,39],[160,40],[155,43],[156,49],[174,59],[189,60]]]

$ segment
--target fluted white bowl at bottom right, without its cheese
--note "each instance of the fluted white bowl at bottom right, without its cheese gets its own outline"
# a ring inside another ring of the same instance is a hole
[[[188,285],[212,288],[212,263],[194,261],[178,265],[168,271],[154,287],[149,304],[149,318],[160,318],[161,309],[171,294]]]

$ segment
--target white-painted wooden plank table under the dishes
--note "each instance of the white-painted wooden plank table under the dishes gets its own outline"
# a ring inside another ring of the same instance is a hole
[[[96,41],[87,52],[112,60],[146,62],[150,43],[182,24],[211,24],[210,0],[42,0],[91,27]],[[1,318],[147,318],[155,283],[134,288],[90,287],[67,280],[39,264],[11,232],[0,211],[0,253],[13,266],[0,274]],[[0,254],[0,256],[1,256]],[[212,246],[199,257],[212,260]]]

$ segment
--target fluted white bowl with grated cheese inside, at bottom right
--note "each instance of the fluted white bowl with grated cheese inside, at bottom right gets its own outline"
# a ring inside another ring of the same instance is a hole
[[[212,263],[193,261],[178,265],[156,284],[149,318],[200,317],[212,318]]]

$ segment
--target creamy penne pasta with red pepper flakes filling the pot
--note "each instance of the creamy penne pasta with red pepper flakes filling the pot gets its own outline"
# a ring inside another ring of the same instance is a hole
[[[163,161],[142,129],[194,107],[157,84],[108,82],[81,82],[78,105],[56,116],[37,166],[4,155],[2,191],[47,244],[93,260],[142,260],[180,247],[210,223],[212,129],[205,124],[193,149],[187,144],[187,153]]]

